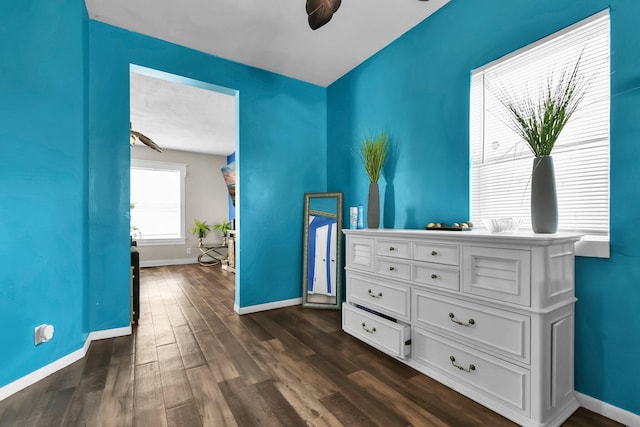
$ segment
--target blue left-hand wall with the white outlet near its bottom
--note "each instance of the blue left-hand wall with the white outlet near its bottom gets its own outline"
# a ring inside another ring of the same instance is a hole
[[[87,336],[87,22],[79,0],[2,5],[0,386]]]

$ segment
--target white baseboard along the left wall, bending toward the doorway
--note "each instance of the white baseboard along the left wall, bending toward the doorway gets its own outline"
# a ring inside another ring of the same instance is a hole
[[[32,384],[37,383],[38,381],[48,377],[49,375],[59,371],[60,369],[66,368],[72,363],[82,359],[87,355],[87,351],[89,350],[91,341],[97,341],[105,338],[115,338],[123,335],[131,335],[131,326],[89,333],[87,339],[84,341],[84,345],[78,350],[74,351],[73,353],[69,353],[66,356],[63,356],[60,359],[51,362],[48,365],[43,366],[42,368],[33,371],[22,378],[18,378],[12,383],[0,387],[0,401],[19,392],[22,389],[29,387]]]

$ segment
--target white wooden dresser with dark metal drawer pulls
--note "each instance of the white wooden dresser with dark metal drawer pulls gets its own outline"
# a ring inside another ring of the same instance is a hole
[[[573,391],[577,234],[344,230],[345,332],[526,426]]]

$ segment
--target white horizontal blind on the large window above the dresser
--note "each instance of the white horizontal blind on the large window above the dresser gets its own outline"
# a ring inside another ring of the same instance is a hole
[[[506,124],[495,96],[539,99],[548,79],[573,70],[588,81],[580,107],[552,151],[558,229],[609,233],[609,14],[601,12],[472,72],[471,218],[520,217],[530,227],[533,154]]]

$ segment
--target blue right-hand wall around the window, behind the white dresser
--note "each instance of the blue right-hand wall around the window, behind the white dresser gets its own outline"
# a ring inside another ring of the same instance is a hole
[[[329,87],[328,176],[345,207],[365,201],[351,150],[386,130],[397,151],[381,180],[384,226],[466,218],[470,71],[609,6],[611,259],[576,262],[576,389],[640,414],[640,2],[451,1]]]

